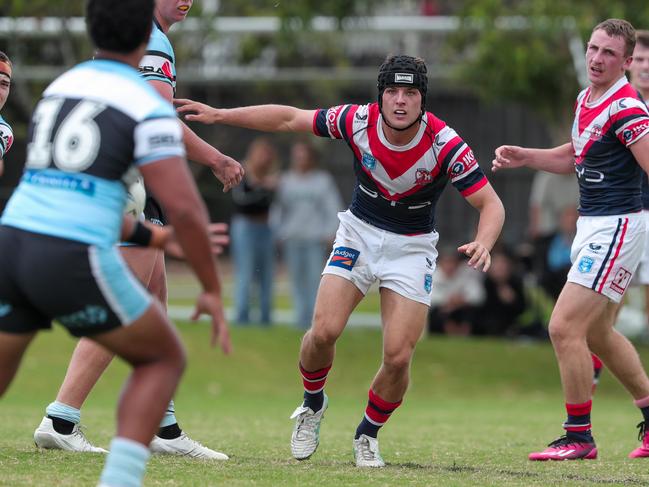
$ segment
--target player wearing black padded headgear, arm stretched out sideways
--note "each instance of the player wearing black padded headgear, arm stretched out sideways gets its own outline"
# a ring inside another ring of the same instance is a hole
[[[268,132],[310,132],[344,140],[354,155],[356,185],[323,271],[313,323],[302,340],[303,403],[292,418],[291,451],[298,460],[318,447],[328,399],[325,382],[336,340],[369,287],[379,282],[383,361],[354,435],[359,467],[382,467],[377,435],[401,405],[417,340],[426,322],[438,234],[435,205],[448,182],[480,213],[475,240],[458,251],[487,270],[504,209],[473,151],[451,127],[425,110],[426,65],[390,56],[381,65],[378,102],[301,110],[261,105],[216,109],[176,100],[186,120]]]

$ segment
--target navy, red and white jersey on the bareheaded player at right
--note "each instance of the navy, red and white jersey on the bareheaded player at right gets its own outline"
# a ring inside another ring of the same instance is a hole
[[[623,76],[597,101],[590,88],[575,104],[572,147],[579,181],[579,213],[621,215],[642,209],[644,172],[629,147],[649,133],[649,112]]]

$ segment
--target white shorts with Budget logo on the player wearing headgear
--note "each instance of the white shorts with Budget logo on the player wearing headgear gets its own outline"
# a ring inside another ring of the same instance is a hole
[[[366,294],[379,281],[413,301],[430,305],[439,235],[400,235],[365,223],[349,210],[338,213],[340,226],[322,271],[353,282]]]

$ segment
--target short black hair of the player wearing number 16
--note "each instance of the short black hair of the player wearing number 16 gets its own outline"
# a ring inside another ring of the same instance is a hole
[[[154,0],[88,0],[86,27],[98,49],[126,54],[148,41]]]

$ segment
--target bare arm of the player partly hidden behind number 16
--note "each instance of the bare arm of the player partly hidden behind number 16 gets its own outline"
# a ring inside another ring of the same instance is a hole
[[[170,103],[173,102],[173,88],[169,83],[150,80],[149,83]],[[209,167],[219,181],[223,183],[223,192],[229,191],[241,182],[243,168],[241,164],[221,153],[215,147],[201,139],[185,123],[182,123],[183,141],[187,159]]]

